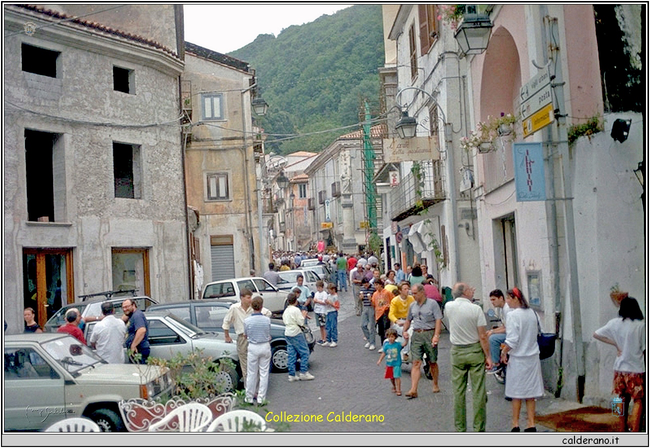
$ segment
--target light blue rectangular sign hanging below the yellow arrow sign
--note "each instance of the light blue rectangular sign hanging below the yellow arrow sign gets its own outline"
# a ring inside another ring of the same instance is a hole
[[[512,152],[517,202],[545,201],[544,152],[541,142],[514,143]]]

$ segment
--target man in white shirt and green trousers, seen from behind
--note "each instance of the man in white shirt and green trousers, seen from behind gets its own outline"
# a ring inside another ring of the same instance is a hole
[[[492,368],[486,334],[486,317],[480,306],[473,304],[474,288],[456,283],[452,288],[454,300],[445,305],[449,319],[451,347],[451,381],[454,391],[454,426],[456,432],[467,430],[465,391],[467,375],[471,377],[474,432],[486,430],[486,365]]]

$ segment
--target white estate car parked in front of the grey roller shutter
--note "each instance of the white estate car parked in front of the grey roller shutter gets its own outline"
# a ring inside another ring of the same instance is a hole
[[[268,283],[262,277],[230,278],[228,280],[207,283],[203,287],[201,298],[239,302],[239,292],[243,288],[250,289],[253,292],[253,296],[261,296],[264,299],[264,306],[268,310],[274,313],[284,311],[284,302],[287,298],[287,293],[279,291],[278,288]]]

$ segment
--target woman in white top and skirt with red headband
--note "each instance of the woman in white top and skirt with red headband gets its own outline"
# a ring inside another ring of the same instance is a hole
[[[506,397],[512,398],[512,432],[519,432],[521,401],[526,401],[527,428],[524,432],[537,432],[535,427],[535,398],[544,395],[544,383],[539,363],[537,343],[538,320],[535,311],[518,288],[508,290],[506,341],[501,350],[501,362],[508,364]],[[508,359],[508,356],[510,358]]]

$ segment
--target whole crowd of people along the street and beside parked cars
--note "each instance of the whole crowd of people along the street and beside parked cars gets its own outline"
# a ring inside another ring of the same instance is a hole
[[[535,400],[543,396],[544,387],[539,360],[539,317],[530,308],[517,287],[504,293],[494,289],[489,300],[500,310],[501,324],[487,329],[484,310],[475,304],[474,288],[456,283],[451,289],[452,300],[444,301],[437,281],[428,273],[426,265],[407,266],[402,270],[395,263],[393,270],[382,274],[377,257],[344,256],[339,254],[276,254],[278,259],[269,264],[264,277],[277,283],[277,271],[283,267],[300,266],[303,257],[314,257],[319,263],[329,263],[335,273],[330,282],[318,280],[316,291],[303,284],[299,274],[296,287],[287,295],[283,312],[287,352],[289,355],[289,382],[313,380],[309,372],[309,347],[305,332],[309,319],[315,319],[320,330],[317,343],[322,347],[338,345],[338,311],[341,307],[339,291],[352,289],[356,315],[361,317],[361,337],[365,349],[375,350],[380,341],[379,365],[385,360],[384,377],[391,380],[392,391],[402,395],[401,366],[412,363],[411,386],[404,393],[408,399],[417,399],[422,363],[426,362],[432,377],[432,393],[438,393],[438,345],[442,331],[443,311],[448,319],[450,341],[451,382],[454,395],[454,427],[457,432],[467,430],[465,393],[471,382],[474,432],[486,430],[486,374],[504,375],[507,381],[504,394],[512,401],[512,432],[519,432],[522,402],[526,407],[524,432],[536,432]],[[277,268],[279,267],[279,268]],[[273,281],[275,280],[275,281]],[[81,317],[76,308],[66,311],[64,332],[94,347],[99,356],[109,363],[125,362],[122,347],[129,349],[131,362],[146,363],[149,356],[148,323],[136,303],[125,299],[123,315],[114,316],[111,302],[101,305],[101,317]],[[34,321],[34,310],[25,308],[25,332],[42,332]],[[223,321],[226,342],[232,342],[231,326],[237,333],[237,353],[246,388],[246,402],[266,400],[270,371],[270,317],[263,307],[261,296],[240,290],[240,301],[231,305]],[[83,326],[86,321],[98,320],[90,340],[86,342]],[[620,304],[619,317],[610,320],[594,334],[595,339],[617,349],[614,362],[613,392],[619,395],[630,412],[631,423],[621,419],[621,430],[638,431],[645,395],[645,323],[635,298],[626,297]],[[361,343],[361,341],[359,342]],[[402,354],[402,352],[404,352]],[[300,370],[296,372],[296,364]]]

